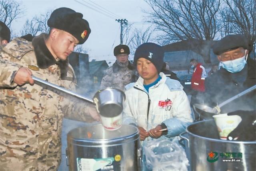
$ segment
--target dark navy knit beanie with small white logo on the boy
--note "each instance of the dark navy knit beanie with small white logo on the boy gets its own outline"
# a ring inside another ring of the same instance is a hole
[[[134,53],[134,65],[137,65],[139,58],[145,58],[151,61],[160,73],[164,65],[164,50],[162,46],[156,43],[143,43]]]

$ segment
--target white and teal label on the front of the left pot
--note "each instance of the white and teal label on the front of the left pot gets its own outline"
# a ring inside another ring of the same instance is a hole
[[[114,171],[114,157],[105,159],[76,158],[78,171]]]

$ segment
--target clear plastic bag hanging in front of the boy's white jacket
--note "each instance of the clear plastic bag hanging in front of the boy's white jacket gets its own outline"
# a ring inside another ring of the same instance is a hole
[[[156,139],[144,146],[146,167],[153,171],[187,171],[188,159],[178,142]]]

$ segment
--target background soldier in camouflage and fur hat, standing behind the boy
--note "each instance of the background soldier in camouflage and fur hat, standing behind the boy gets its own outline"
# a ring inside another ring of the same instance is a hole
[[[114,87],[124,90],[124,86],[137,81],[138,74],[130,61],[128,61],[129,54],[130,49],[126,45],[118,45],[114,48],[116,62],[106,69],[101,81],[101,88]]]

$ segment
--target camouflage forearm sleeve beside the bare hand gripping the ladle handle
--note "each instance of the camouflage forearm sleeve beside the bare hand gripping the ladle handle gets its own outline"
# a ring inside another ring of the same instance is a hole
[[[17,86],[13,82],[17,71],[22,67],[16,63],[12,63],[6,59],[3,59],[0,55],[0,87],[1,88],[12,88]]]

